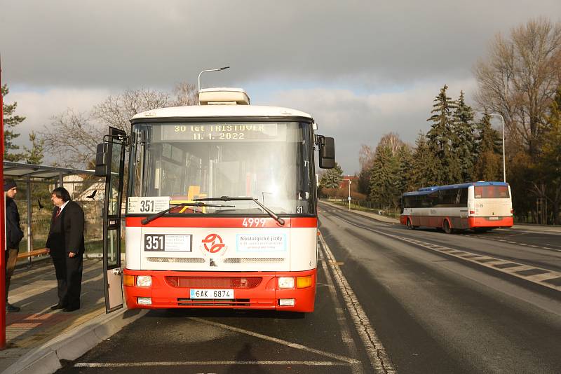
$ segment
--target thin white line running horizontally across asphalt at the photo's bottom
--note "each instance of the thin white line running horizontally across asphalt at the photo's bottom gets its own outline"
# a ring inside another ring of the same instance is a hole
[[[75,368],[134,368],[140,366],[198,366],[198,365],[304,365],[349,366],[337,361],[148,361],[148,362],[77,362]]]

